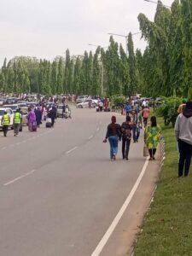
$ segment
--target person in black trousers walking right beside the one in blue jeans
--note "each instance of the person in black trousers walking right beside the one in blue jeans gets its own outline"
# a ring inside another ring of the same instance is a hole
[[[127,115],[126,121],[121,125],[123,160],[129,160],[128,157],[129,157],[130,144],[131,144],[131,131],[132,131],[131,117]]]

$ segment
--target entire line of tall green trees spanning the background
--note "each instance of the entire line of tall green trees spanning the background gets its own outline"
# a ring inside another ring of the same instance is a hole
[[[0,91],[51,94],[143,96],[187,95],[192,81],[192,1],[175,0],[172,8],[157,4],[154,21],[138,16],[148,46],[135,51],[131,33],[125,53],[109,40],[108,49],[95,54],[5,59],[0,70]]]

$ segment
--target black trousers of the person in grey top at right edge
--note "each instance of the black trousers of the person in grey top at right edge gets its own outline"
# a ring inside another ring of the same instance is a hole
[[[178,140],[178,149],[179,149],[179,163],[178,163],[178,176],[189,175],[189,168],[192,156],[192,145],[189,143],[185,143],[182,140]]]

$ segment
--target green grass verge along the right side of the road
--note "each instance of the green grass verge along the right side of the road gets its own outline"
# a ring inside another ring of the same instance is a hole
[[[160,121],[166,160],[154,202],[138,236],[135,255],[192,255],[192,172],[177,178],[177,145],[172,127]]]

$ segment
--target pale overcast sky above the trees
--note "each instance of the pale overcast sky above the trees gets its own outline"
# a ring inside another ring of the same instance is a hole
[[[163,0],[171,5],[172,0]],[[53,60],[56,55],[95,51],[108,46],[109,32],[139,32],[140,13],[154,19],[155,3],[143,0],[0,0],[0,65],[16,55]],[[125,47],[125,38],[114,37]],[[141,35],[135,49],[144,49]]]

